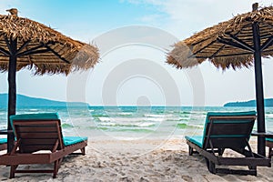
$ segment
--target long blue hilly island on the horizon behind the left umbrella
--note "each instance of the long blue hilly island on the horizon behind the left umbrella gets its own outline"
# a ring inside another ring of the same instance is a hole
[[[55,101],[45,98],[36,98],[31,96],[24,96],[24,95],[17,95],[16,96],[16,106],[17,107],[66,107],[68,106],[89,106],[83,102],[62,102],[62,101]],[[7,107],[7,94],[0,94],[0,108]]]

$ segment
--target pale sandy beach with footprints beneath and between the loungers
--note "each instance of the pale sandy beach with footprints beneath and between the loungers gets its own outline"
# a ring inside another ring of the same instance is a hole
[[[66,157],[56,179],[51,174],[15,174],[15,179],[9,179],[9,167],[1,166],[0,180],[273,181],[270,167],[258,167],[257,177],[213,175],[203,157],[187,155],[185,140],[173,138],[162,142],[160,139],[89,140],[86,156]],[[255,142],[251,146],[255,148]]]

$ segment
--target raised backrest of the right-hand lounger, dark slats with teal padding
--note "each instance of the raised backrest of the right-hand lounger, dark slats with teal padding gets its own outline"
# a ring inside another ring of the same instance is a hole
[[[256,112],[207,113],[203,148],[245,148]]]

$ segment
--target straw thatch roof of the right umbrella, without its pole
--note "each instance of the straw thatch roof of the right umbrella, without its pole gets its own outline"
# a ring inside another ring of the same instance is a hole
[[[237,15],[174,45],[167,63],[177,68],[196,66],[206,59],[226,69],[253,65],[252,25],[259,26],[262,56],[273,55],[273,7]]]

